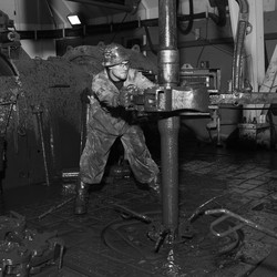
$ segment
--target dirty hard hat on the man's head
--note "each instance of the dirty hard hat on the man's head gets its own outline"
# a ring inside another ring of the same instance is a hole
[[[130,54],[127,53],[125,48],[117,43],[111,43],[104,49],[102,64],[104,66],[112,66],[129,60]]]

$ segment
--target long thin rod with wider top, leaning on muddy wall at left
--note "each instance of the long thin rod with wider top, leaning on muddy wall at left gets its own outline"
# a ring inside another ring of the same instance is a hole
[[[42,148],[42,155],[43,155],[43,165],[44,165],[44,172],[45,172],[45,182],[47,185],[50,185],[49,182],[49,167],[48,167],[48,161],[47,161],[47,152],[45,152],[45,141],[44,141],[44,134],[43,134],[43,121],[42,121],[42,107],[41,105],[33,105],[32,112],[35,114],[37,122],[39,125],[39,133],[40,133],[40,140],[41,140],[41,148]]]

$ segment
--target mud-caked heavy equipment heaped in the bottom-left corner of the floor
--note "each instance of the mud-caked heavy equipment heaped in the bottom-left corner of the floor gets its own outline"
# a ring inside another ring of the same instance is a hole
[[[57,232],[29,229],[24,216],[16,212],[0,216],[0,276],[28,277],[48,265],[61,269],[64,242]]]

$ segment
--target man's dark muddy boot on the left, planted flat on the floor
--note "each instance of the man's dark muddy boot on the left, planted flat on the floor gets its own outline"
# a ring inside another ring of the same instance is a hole
[[[74,206],[74,214],[75,215],[83,215],[88,212],[89,205],[89,187],[90,185],[79,181],[76,184],[76,198],[75,198],[75,206]]]

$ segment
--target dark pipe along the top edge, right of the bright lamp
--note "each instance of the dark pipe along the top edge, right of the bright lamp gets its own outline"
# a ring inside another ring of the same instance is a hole
[[[78,2],[78,3],[84,3],[84,4],[93,4],[93,6],[99,6],[107,9],[113,9],[113,10],[120,10],[124,12],[130,12],[134,13],[141,0],[132,0],[131,4],[116,4],[116,3],[111,3],[111,2],[105,2],[105,1],[96,1],[96,0],[66,0],[70,2]]]

